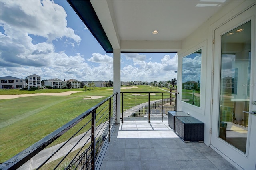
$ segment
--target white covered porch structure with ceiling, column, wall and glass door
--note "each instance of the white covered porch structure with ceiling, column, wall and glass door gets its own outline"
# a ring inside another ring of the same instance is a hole
[[[113,53],[118,123],[121,53],[177,52],[178,111],[204,123],[207,146],[236,168],[255,170],[255,0],[68,0],[68,3],[103,49]],[[182,101],[184,76],[188,76],[186,80],[199,79],[200,93],[195,96],[198,105]],[[223,91],[221,79],[227,76],[237,77],[240,84],[236,94]],[[240,128],[226,129],[226,138],[220,135],[223,106],[232,107],[234,116],[243,118],[237,120],[243,124],[228,122]]]

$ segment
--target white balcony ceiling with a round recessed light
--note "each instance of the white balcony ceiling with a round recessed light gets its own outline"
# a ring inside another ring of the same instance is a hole
[[[229,1],[91,0],[90,2],[113,49],[121,49],[123,52],[173,52],[181,49],[182,40]],[[154,30],[158,30],[158,34],[152,34]]]

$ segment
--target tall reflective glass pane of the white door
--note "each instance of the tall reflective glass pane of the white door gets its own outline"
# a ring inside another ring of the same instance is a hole
[[[219,132],[235,148],[246,152],[251,65],[251,22],[222,35]]]

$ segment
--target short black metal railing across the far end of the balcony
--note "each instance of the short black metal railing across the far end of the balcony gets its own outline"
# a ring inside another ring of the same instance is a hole
[[[177,110],[177,92],[121,92],[122,122],[124,117],[167,117]]]

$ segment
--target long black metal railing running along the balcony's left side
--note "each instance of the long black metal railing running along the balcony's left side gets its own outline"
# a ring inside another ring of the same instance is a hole
[[[30,169],[98,169],[108,142],[110,142],[114,129],[112,127],[116,125],[116,99],[117,93],[114,93],[42,140],[0,164],[0,170],[28,169],[26,162],[38,154],[40,157],[40,152],[44,149],[51,150],[50,154],[37,159],[37,162],[41,161],[40,164]],[[67,140],[63,138],[65,135],[69,136]],[[64,142],[60,142],[63,140]],[[71,142],[73,143],[70,147],[67,147]]]

